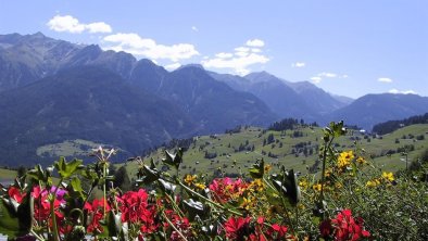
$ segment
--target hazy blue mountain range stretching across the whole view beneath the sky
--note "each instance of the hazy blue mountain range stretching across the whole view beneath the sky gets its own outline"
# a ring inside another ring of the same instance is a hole
[[[375,124],[428,112],[428,98],[332,96],[266,72],[235,76],[34,35],[0,35],[0,164],[51,161],[37,149],[66,140],[109,143],[129,155],[173,138],[267,126],[285,117],[322,125]],[[25,161],[24,161],[25,160]]]

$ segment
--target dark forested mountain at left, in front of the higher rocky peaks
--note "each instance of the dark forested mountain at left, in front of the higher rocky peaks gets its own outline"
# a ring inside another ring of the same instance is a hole
[[[171,137],[198,130],[177,105],[96,66],[63,69],[2,93],[0,106],[2,163],[42,158],[35,156],[36,147],[70,139],[109,143],[139,154]]]

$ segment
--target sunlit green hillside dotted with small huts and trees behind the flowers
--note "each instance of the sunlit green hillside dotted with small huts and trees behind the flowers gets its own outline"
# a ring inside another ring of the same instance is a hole
[[[293,137],[295,131],[300,131],[301,136]],[[267,140],[270,134],[275,141],[263,145],[264,140]],[[420,135],[424,136],[424,140],[417,140],[416,137]],[[403,139],[404,136],[405,139]],[[413,136],[413,138],[410,138],[410,136]],[[307,173],[307,167],[311,167],[318,157],[318,150],[323,144],[322,137],[323,129],[319,127],[298,127],[294,130],[287,131],[263,131],[262,128],[249,127],[242,128],[238,134],[196,137],[194,143],[185,152],[180,174],[196,172],[212,175],[216,170],[225,174],[239,174],[240,172],[247,172],[248,167],[262,157],[274,168],[279,164],[304,174]],[[395,142],[396,139],[399,143]],[[295,145],[299,145],[299,143],[301,147],[297,148]],[[415,150],[408,152],[407,160],[408,162],[416,160],[420,152],[428,148],[428,124],[404,127],[382,137],[350,130],[345,137],[337,139],[335,143],[342,150],[354,150],[358,147],[365,150],[364,155],[367,158],[372,156],[379,167],[387,170],[398,170],[405,168],[405,156],[402,153],[389,155],[387,154],[388,151],[396,151],[398,148],[413,144]],[[254,145],[254,151],[236,152],[235,150],[239,149],[239,145],[244,145],[246,149],[248,147],[251,149]],[[304,147],[307,150],[306,155],[304,154]],[[205,152],[216,153],[217,156],[206,158]],[[160,161],[164,157],[164,150],[158,149],[150,156],[146,156],[146,164],[149,163],[148,161],[151,157],[155,162]],[[162,166],[162,162],[156,163],[159,163],[159,167]],[[127,164],[127,167],[130,177],[135,177],[137,164],[131,162]]]

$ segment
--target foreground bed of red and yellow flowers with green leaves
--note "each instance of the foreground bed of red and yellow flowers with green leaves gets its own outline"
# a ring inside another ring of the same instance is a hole
[[[426,240],[428,189],[408,173],[374,166],[363,150],[336,150],[343,124],[325,129],[318,175],[272,174],[257,161],[247,176],[179,178],[182,152],[139,162],[135,189],[110,187],[109,158],[60,158],[3,188],[0,233],[22,240]],[[60,178],[52,183],[52,174]],[[93,199],[100,188],[102,198]]]

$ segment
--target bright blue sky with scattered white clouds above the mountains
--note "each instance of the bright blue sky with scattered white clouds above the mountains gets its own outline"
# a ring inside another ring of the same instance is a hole
[[[43,33],[173,71],[266,71],[351,98],[428,96],[426,0],[0,0],[0,35]]]

